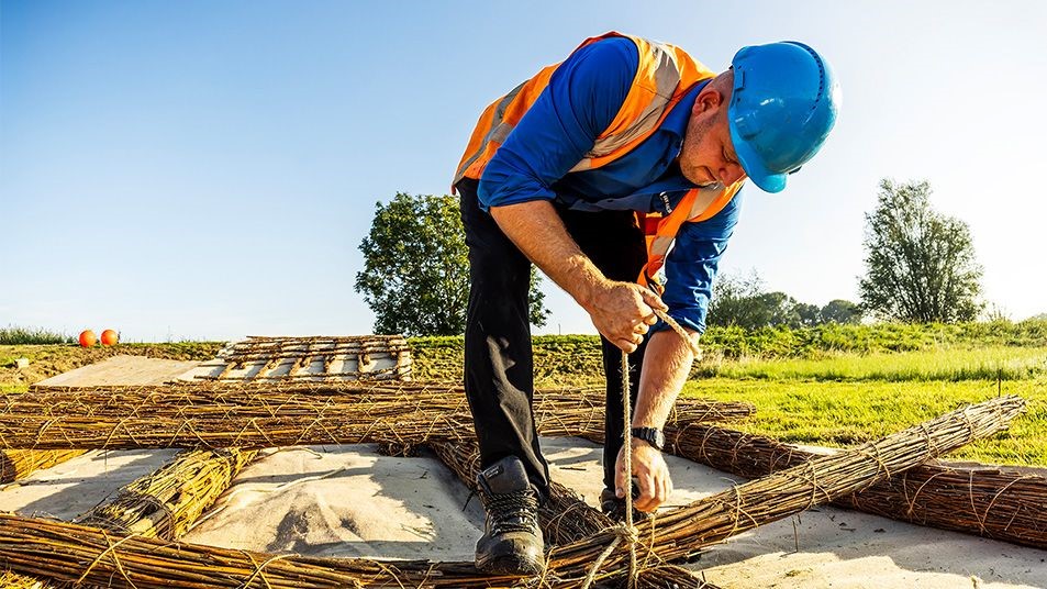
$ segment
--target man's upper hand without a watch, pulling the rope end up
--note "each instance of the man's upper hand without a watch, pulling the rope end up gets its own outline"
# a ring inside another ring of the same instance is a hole
[[[658,322],[654,309],[669,310],[650,289],[632,282],[608,281],[586,304],[597,331],[630,354],[643,343],[650,325]]]

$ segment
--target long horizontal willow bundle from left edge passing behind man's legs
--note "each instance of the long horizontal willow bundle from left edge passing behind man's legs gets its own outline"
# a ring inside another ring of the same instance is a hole
[[[0,447],[21,449],[410,445],[472,430],[465,396],[446,386],[40,389],[0,411]],[[546,391],[535,411],[546,435],[603,427],[602,400],[579,390]],[[699,400],[680,411],[727,419],[751,407]]]

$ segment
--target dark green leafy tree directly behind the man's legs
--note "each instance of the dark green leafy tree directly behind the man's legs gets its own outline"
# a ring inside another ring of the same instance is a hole
[[[364,269],[356,291],[375,312],[375,333],[457,335],[469,303],[469,251],[458,199],[398,192],[377,203],[370,233],[360,242]],[[545,325],[549,311],[531,275],[531,322]]]

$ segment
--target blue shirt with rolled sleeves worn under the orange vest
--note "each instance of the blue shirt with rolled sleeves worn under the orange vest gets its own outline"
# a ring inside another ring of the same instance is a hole
[[[480,207],[556,200],[583,211],[633,210],[668,214],[695,185],[676,163],[691,105],[704,82],[677,104],[658,130],[628,154],[602,167],[569,170],[611,125],[632,86],[639,56],[636,45],[611,37],[575,52],[488,163]],[[699,333],[720,257],[738,220],[740,196],[715,216],[683,223],[666,258],[669,314]],[[654,331],[664,329],[659,323]]]

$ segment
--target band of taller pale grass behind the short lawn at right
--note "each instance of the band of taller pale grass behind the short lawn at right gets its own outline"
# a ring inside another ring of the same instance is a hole
[[[742,358],[702,363],[702,378],[760,380],[1026,380],[1047,375],[1047,347],[942,348],[918,352],[837,354],[818,359]]]

